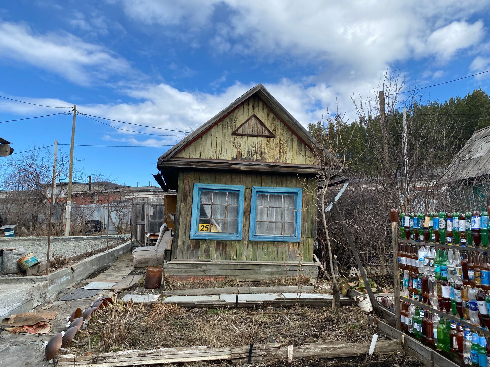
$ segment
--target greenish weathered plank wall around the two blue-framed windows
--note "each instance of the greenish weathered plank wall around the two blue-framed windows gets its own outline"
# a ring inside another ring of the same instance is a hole
[[[242,241],[190,239],[194,183],[245,185]],[[313,261],[313,239],[317,232],[317,180],[307,176],[245,174],[240,172],[179,172],[177,213],[172,259]],[[248,241],[252,186],[302,187],[301,242]]]

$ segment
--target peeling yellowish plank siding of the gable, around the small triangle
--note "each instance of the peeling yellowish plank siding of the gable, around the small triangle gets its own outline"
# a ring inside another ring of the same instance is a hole
[[[251,115],[257,115],[275,138],[231,135]],[[315,155],[257,96],[251,97],[211,130],[175,155],[236,161],[315,164]]]

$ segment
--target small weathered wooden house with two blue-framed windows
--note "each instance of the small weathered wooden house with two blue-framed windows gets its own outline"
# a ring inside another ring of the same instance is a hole
[[[173,146],[157,164],[163,188],[177,190],[164,268],[253,280],[251,270],[255,277],[297,275],[301,261],[316,276],[315,147],[261,84]]]

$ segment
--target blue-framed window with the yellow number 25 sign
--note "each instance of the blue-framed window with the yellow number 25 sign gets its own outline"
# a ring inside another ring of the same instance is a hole
[[[192,239],[241,240],[245,186],[194,184]]]

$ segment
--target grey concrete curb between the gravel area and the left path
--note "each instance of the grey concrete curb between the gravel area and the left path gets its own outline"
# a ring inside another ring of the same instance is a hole
[[[113,264],[120,254],[130,251],[131,241],[127,241],[49,275],[1,278],[0,320],[12,314],[28,312],[43,302],[54,299],[63,289]]]

